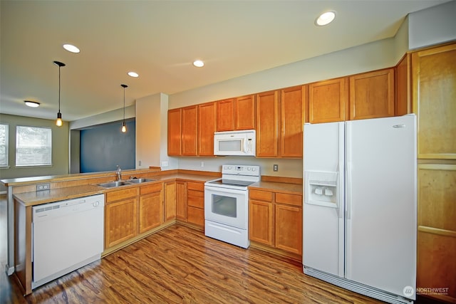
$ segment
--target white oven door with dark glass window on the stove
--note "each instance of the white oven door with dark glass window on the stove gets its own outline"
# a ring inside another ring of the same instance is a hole
[[[247,229],[247,189],[204,186],[204,219]]]

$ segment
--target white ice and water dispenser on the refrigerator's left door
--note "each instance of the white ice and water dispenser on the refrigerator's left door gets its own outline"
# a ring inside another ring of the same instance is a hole
[[[307,204],[337,208],[338,172],[305,172],[305,199]]]

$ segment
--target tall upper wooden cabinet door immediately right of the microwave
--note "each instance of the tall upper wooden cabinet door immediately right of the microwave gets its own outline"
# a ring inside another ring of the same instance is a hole
[[[275,157],[279,143],[279,92],[257,94],[257,157]]]

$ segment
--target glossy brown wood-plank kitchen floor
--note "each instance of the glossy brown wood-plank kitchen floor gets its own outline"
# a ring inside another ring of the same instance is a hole
[[[6,276],[0,197],[0,303],[381,303],[311,278],[300,263],[173,225],[33,290]]]

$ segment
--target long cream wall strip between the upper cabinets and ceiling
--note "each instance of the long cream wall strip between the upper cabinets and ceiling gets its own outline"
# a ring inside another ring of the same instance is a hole
[[[176,93],[170,95],[170,109],[387,68],[403,56],[395,47],[395,38],[388,38]]]

